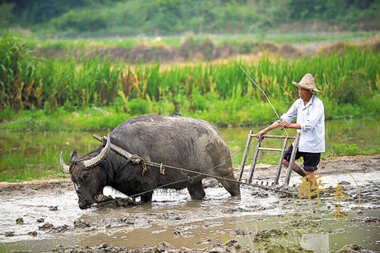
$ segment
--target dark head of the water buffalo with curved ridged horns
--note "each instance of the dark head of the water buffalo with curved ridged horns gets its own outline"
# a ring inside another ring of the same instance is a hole
[[[79,207],[89,208],[96,202],[96,198],[102,193],[105,186],[105,179],[102,176],[101,166],[110,150],[109,135],[107,143],[98,155],[92,156],[91,152],[83,157],[78,157],[77,151],[72,152],[70,165],[63,161],[62,152],[60,155],[60,165],[64,172],[71,174],[75,190],[79,197]]]

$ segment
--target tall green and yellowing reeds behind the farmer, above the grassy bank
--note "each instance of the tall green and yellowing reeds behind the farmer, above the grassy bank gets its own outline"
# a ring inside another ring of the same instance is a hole
[[[199,98],[207,94],[215,101],[263,101],[240,66],[274,103],[292,101],[296,89],[291,81],[299,81],[306,73],[314,75],[318,88],[325,91],[321,96],[332,104],[361,103],[380,87],[380,53],[352,45],[330,55],[283,59],[264,54],[258,62],[199,62],[163,69],[160,63],[131,66],[107,57],[37,59],[30,56],[21,39],[10,36],[0,39],[0,48],[0,109],[15,111],[106,106],[118,97],[125,104],[134,98],[167,100],[177,106],[188,104],[189,110],[202,107],[198,103],[204,101]]]

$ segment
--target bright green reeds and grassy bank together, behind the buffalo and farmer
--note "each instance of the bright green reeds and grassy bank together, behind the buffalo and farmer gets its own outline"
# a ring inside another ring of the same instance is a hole
[[[380,53],[345,44],[310,57],[256,62],[226,60],[163,67],[100,57],[45,59],[30,54],[24,41],[0,39],[0,125],[13,130],[112,129],[141,114],[205,119],[215,125],[270,123],[274,113],[243,66],[284,112],[297,97],[291,80],[313,70],[324,93],[326,119],[380,113]],[[83,117],[72,117],[71,112]],[[15,113],[17,112],[17,113]],[[88,120],[83,120],[86,115]]]

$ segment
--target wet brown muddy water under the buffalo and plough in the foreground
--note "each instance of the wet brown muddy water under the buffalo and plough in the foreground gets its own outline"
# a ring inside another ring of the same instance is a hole
[[[273,167],[259,167],[254,180],[270,181],[274,172]],[[252,251],[281,245],[291,251],[327,252],[352,243],[380,250],[380,157],[327,161],[320,172],[328,192],[320,196],[319,208],[317,198],[298,197],[299,186],[288,189],[294,196],[243,186],[241,197],[232,198],[208,180],[204,184],[211,187],[203,201],[192,201],[185,190],[158,191],[151,206],[108,204],[81,210],[70,182],[3,184],[0,251],[43,252],[60,244],[100,243],[132,249],[162,241],[204,248],[230,239]],[[290,185],[297,182],[293,174]],[[338,182],[350,197],[340,202],[348,218],[339,223],[333,219],[336,201],[331,200]],[[113,194],[109,189],[105,193]],[[16,223],[18,218],[23,224]],[[28,234],[33,231],[36,235]]]

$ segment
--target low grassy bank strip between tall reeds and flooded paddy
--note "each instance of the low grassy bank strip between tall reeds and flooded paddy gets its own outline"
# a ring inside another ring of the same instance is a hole
[[[181,113],[182,116],[204,119],[216,126],[254,126],[265,125],[276,120],[276,115],[264,100],[254,102],[249,99],[217,100],[216,98],[200,97],[207,109]],[[50,110],[29,110],[15,113],[5,109],[0,111],[0,129],[7,131],[110,131],[123,121],[142,114],[160,114],[170,116],[175,105],[168,101],[143,102],[132,101],[130,112],[125,113],[122,104],[106,107],[88,107],[74,112],[59,107],[55,112]],[[141,104],[142,105],[141,105]],[[279,114],[286,112],[290,103],[272,101]],[[328,99],[324,100],[326,118],[361,118],[363,116],[376,116],[380,112],[380,98],[375,97],[363,105],[336,105]],[[134,107],[136,106],[136,108]],[[146,106],[148,109],[144,109]],[[183,104],[182,104],[183,106]],[[142,109],[141,109],[142,107]]]

